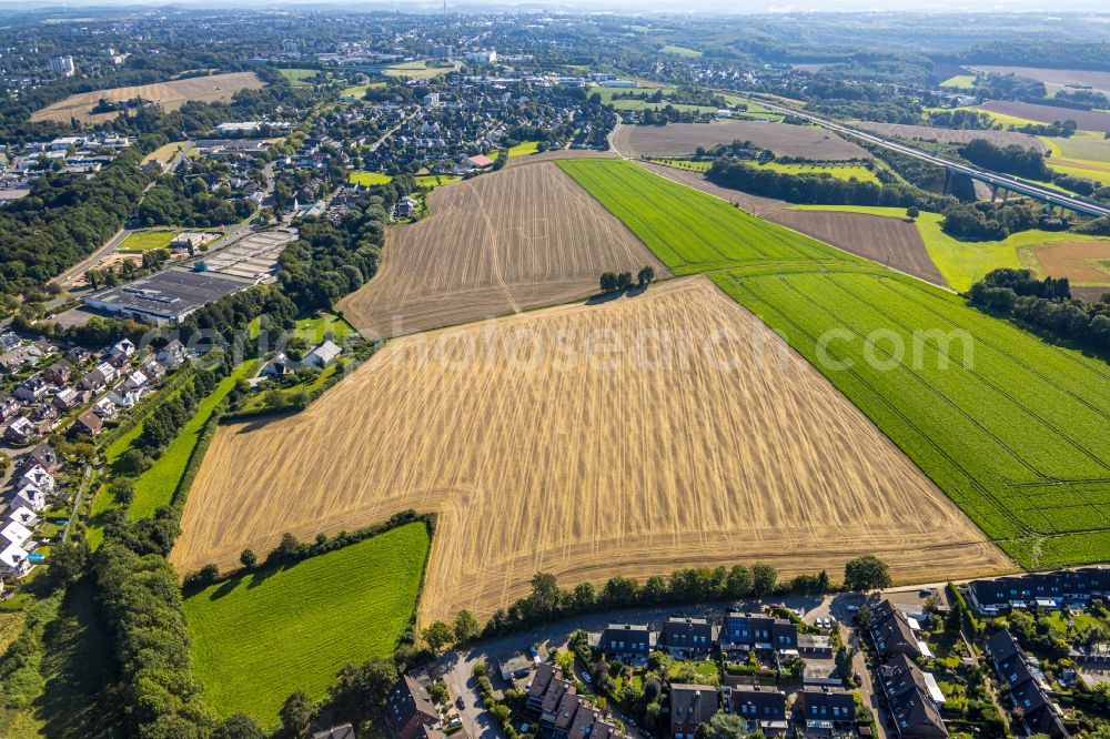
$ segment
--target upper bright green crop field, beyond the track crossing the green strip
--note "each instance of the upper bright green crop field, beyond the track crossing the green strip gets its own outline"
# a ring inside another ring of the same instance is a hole
[[[564,160],[558,165],[624,221],[675,274],[769,262],[859,262],[632,162]]]

